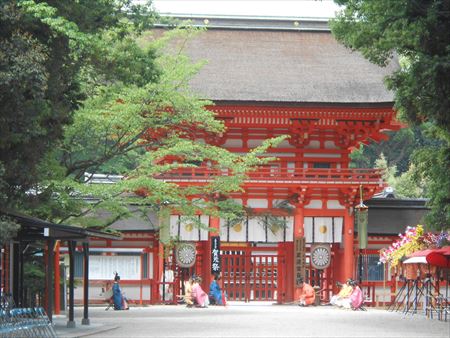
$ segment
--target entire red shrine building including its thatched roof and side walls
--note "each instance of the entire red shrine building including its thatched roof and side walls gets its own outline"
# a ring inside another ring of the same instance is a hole
[[[366,201],[385,187],[379,170],[350,168],[349,154],[361,144],[386,140],[386,131],[401,127],[393,94],[383,83],[398,68],[397,60],[385,68],[371,64],[339,44],[327,20],[181,19],[207,28],[186,45],[194,61],[207,60],[191,88],[214,102],[206,108],[226,126],[226,132],[207,141],[246,153],[265,139],[289,135],[268,151],[278,160],[250,173],[245,192],[228,196],[266,215],[266,221],[247,217],[230,226],[225,219],[199,215],[202,223],[217,229],[208,233],[184,222],[182,215],[171,215],[170,235],[178,236],[181,245],[178,257],[174,253],[164,262],[157,219],[145,224],[124,220],[116,224],[124,230],[123,241],[91,243],[99,266],[91,278],[98,275],[99,283],[105,278],[100,266],[108,259],[106,251],[118,258],[128,250],[124,266],[135,270],[129,277],[123,274],[122,283],[135,286],[141,303],[175,302],[173,294],[182,291],[180,281],[187,275],[203,276],[208,289],[212,240],[219,236],[220,271],[229,299],[290,302],[299,277],[327,299],[337,281],[358,278],[361,252],[354,216],[360,189]],[[206,164],[200,169],[161,179],[180,186],[201,184],[208,180],[208,169]],[[273,219],[283,219],[285,226],[277,228],[270,223]],[[369,237],[372,256],[398,231]],[[133,255],[133,250],[141,251]]]

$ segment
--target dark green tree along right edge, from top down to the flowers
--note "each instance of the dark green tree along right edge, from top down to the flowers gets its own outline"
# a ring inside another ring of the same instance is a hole
[[[380,66],[400,55],[402,67],[387,78],[394,91],[399,117],[411,125],[426,123],[435,138],[412,159],[432,212],[427,219],[436,229],[450,224],[450,1],[449,0],[335,0],[344,6],[331,27],[345,46],[360,51]],[[434,130],[434,129],[438,130]],[[437,166],[424,161],[433,157]],[[443,169],[446,168],[446,169]],[[418,178],[417,175],[415,175]]]

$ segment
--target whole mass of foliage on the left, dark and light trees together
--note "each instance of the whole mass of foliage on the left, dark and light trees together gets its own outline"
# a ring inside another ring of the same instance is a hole
[[[282,138],[246,155],[206,144],[224,125],[205,110],[211,102],[188,85],[202,64],[192,64],[183,47],[201,31],[181,26],[143,35],[155,15],[149,5],[132,3],[16,1],[2,7],[6,46],[21,46],[16,32],[37,46],[37,56],[12,53],[16,57],[6,60],[0,79],[2,103],[12,100],[2,116],[6,132],[0,158],[7,206],[83,226],[107,226],[129,215],[130,204],[143,212],[167,206],[185,215],[238,212],[219,196],[240,190],[246,173],[267,163],[265,150]],[[36,79],[30,69],[36,69]],[[24,79],[18,88],[12,87],[12,72]],[[186,188],[155,179],[201,164],[231,174]],[[124,179],[86,184],[93,173]],[[98,217],[99,209],[108,217]]]

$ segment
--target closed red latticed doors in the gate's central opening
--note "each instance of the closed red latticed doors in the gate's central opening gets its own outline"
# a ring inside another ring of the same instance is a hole
[[[284,257],[277,247],[228,247],[221,255],[223,289],[229,300],[278,300]]]

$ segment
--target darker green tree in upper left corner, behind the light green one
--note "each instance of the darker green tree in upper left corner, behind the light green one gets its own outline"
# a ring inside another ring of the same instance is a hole
[[[128,38],[133,28],[149,27],[151,14],[149,4],[126,0],[0,4],[3,205],[16,207],[39,182],[42,157],[63,138],[90,84],[111,78],[142,83],[157,75],[152,53],[143,54]],[[124,65],[135,60],[146,67],[132,76]]]

